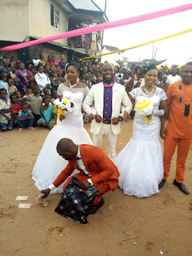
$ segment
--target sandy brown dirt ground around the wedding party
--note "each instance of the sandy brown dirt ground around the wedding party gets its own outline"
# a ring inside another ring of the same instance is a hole
[[[89,131],[90,125],[85,128]],[[172,184],[174,156],[170,177],[158,195],[138,199],[116,189],[104,195],[105,204],[81,225],[54,212],[61,195],[49,196],[47,207],[35,204],[38,189],[31,171],[48,132],[1,132],[1,256],[155,256],[159,250],[169,256],[192,255],[192,151],[185,176],[191,194],[184,195]],[[131,136],[129,120],[122,124],[117,153]],[[106,143],[102,149],[107,152]],[[31,208],[19,209],[22,202],[15,198],[27,195]]]

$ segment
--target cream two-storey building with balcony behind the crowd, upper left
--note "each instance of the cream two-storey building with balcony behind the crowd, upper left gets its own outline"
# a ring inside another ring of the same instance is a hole
[[[0,47],[18,44],[36,38],[58,35],[67,31],[108,21],[106,15],[92,0],[1,0]],[[78,60],[100,51],[100,32],[73,38],[63,38],[46,44],[34,45],[2,56],[28,61],[35,52],[54,54],[60,60]]]

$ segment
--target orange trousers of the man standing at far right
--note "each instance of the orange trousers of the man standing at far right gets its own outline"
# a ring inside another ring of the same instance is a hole
[[[163,154],[163,165],[164,165],[163,179],[164,180],[168,178],[172,156],[175,152],[175,148],[177,147],[177,166],[176,166],[175,179],[179,183],[184,182],[184,172],[186,168],[186,160],[188,157],[190,146],[191,146],[191,138],[179,139],[179,138],[166,136],[166,138],[164,139],[164,154]]]

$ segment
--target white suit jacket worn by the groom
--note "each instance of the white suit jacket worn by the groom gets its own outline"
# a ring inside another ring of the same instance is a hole
[[[104,105],[104,85],[103,83],[95,84],[90,89],[90,92],[86,96],[83,102],[84,111],[90,115],[92,109],[90,106],[94,101],[94,108],[97,111],[97,115],[103,117],[103,105]],[[132,103],[129,99],[125,87],[122,84],[114,83],[113,86],[113,96],[112,96],[112,114],[111,118],[118,117],[120,115],[122,104],[125,106],[125,110],[130,113],[132,110]],[[120,122],[117,125],[110,124],[113,134],[118,134],[120,130]],[[90,131],[93,134],[99,134],[102,126],[102,122],[97,123],[95,119],[92,120],[92,125]]]

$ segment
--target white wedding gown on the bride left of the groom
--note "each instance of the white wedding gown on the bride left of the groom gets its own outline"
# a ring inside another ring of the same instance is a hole
[[[63,159],[56,151],[58,141],[62,138],[69,138],[77,145],[92,145],[88,132],[83,128],[83,116],[81,113],[82,102],[88,93],[88,88],[71,89],[63,85],[62,89],[63,97],[68,97],[74,101],[75,111],[71,113],[65,112],[65,119],[62,121],[57,120],[57,125],[49,132],[36,159],[32,179],[35,180],[35,186],[40,190],[48,188],[68,164],[68,161]],[[79,173],[79,171],[75,170],[72,175],[75,173]],[[54,189],[52,193],[63,193],[63,184]]]

